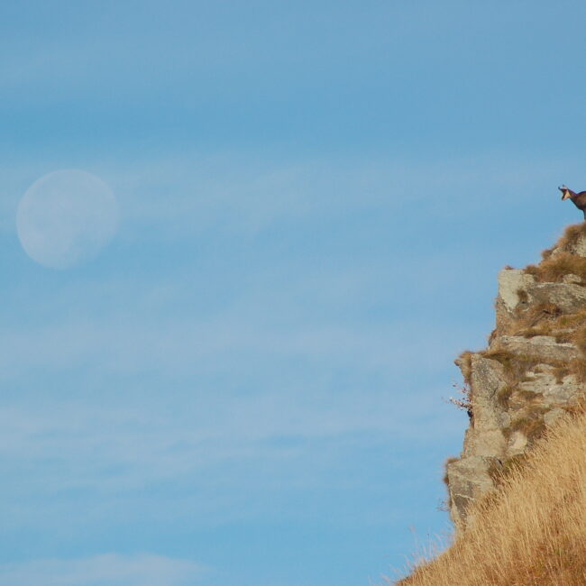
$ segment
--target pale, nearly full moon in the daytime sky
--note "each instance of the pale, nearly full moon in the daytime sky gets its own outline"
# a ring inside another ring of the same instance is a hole
[[[112,240],[117,224],[112,190],[102,179],[76,169],[37,179],[16,213],[24,251],[51,269],[69,269],[94,258]]]

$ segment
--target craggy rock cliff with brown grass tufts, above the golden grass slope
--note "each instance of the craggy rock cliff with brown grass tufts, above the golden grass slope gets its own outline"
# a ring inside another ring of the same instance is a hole
[[[586,223],[566,229],[543,260],[499,273],[488,347],[455,361],[468,410],[459,458],[446,463],[453,522],[522,462],[547,426],[586,394]]]

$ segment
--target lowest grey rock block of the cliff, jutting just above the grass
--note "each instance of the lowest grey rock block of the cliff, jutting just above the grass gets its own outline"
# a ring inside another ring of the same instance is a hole
[[[469,456],[446,465],[445,472],[450,487],[450,514],[456,526],[464,525],[467,508],[472,500],[494,487],[490,470],[499,467],[497,458],[484,456]]]

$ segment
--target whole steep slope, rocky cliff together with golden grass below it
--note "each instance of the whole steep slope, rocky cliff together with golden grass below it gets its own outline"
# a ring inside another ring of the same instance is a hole
[[[586,223],[542,256],[500,272],[489,345],[456,360],[454,541],[401,585],[586,584]]]

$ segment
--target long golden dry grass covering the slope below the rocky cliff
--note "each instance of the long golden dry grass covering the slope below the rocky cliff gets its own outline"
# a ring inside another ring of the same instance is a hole
[[[586,584],[586,415],[566,417],[400,586]],[[390,582],[389,582],[390,583]]]

